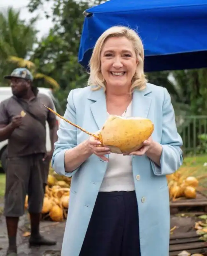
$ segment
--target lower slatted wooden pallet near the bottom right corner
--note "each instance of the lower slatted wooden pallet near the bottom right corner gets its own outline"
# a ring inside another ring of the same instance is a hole
[[[182,251],[207,255],[207,243],[200,241],[195,231],[171,235],[169,256],[177,256]]]

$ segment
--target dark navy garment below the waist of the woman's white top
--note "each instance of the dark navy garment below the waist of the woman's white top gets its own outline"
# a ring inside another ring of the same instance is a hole
[[[98,193],[79,256],[141,256],[135,191]]]

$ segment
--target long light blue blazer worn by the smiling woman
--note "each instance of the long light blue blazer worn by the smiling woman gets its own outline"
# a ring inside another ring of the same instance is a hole
[[[174,110],[167,90],[153,84],[147,84],[143,91],[135,90],[132,116],[149,118],[155,127],[152,138],[163,147],[161,167],[147,156],[132,156],[141,255],[168,256],[170,211],[165,175],[175,172],[182,164],[182,139],[176,129]],[[88,86],[70,91],[65,118],[89,132],[100,130],[107,118],[104,90],[92,91]],[[55,172],[72,176],[61,256],[79,256],[107,163],[92,155],[77,170],[66,173],[65,151],[88,139],[88,135],[63,120],[57,133],[52,166]],[[137,175],[140,175],[140,179],[136,179]]]

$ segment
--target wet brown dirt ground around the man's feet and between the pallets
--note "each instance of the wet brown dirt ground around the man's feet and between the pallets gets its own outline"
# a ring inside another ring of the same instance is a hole
[[[193,216],[171,216],[171,228],[177,228],[173,233],[189,232],[193,230],[196,218]],[[4,256],[7,249],[7,232],[4,217],[0,217],[0,256]],[[39,248],[28,248],[28,237],[23,234],[29,231],[29,221],[27,215],[24,215],[19,221],[18,230],[18,255],[19,256],[60,256],[62,240],[64,235],[65,222],[41,222],[41,233],[49,239],[57,241],[55,246],[42,246]]]

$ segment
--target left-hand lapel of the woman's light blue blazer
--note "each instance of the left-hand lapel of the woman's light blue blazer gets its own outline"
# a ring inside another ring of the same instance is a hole
[[[88,99],[92,101],[90,105],[91,113],[98,129],[101,130],[108,116],[104,89],[91,91]]]

